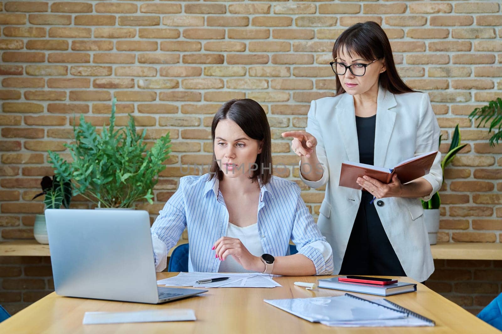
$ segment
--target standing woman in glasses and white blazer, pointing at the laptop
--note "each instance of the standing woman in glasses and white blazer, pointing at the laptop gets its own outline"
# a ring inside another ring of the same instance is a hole
[[[326,184],[317,224],[333,248],[333,273],[409,276],[434,271],[424,209],[442,183],[438,153],[429,174],[402,184],[364,176],[362,190],[340,187],[344,160],[393,168],[436,151],[439,126],[429,96],[399,77],[389,40],[373,22],[345,30],[333,47],[336,95],[312,101],[305,131],[290,131],[300,178]],[[373,197],[375,198],[373,200]]]

